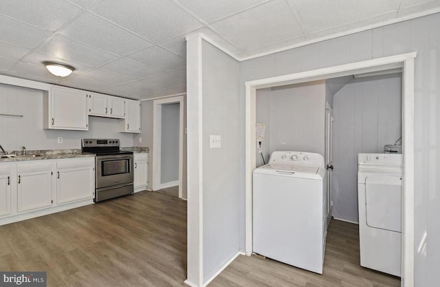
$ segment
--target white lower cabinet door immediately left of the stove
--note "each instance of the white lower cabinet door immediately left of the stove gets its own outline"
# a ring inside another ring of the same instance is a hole
[[[95,160],[65,160],[57,163],[56,203],[94,198]]]

